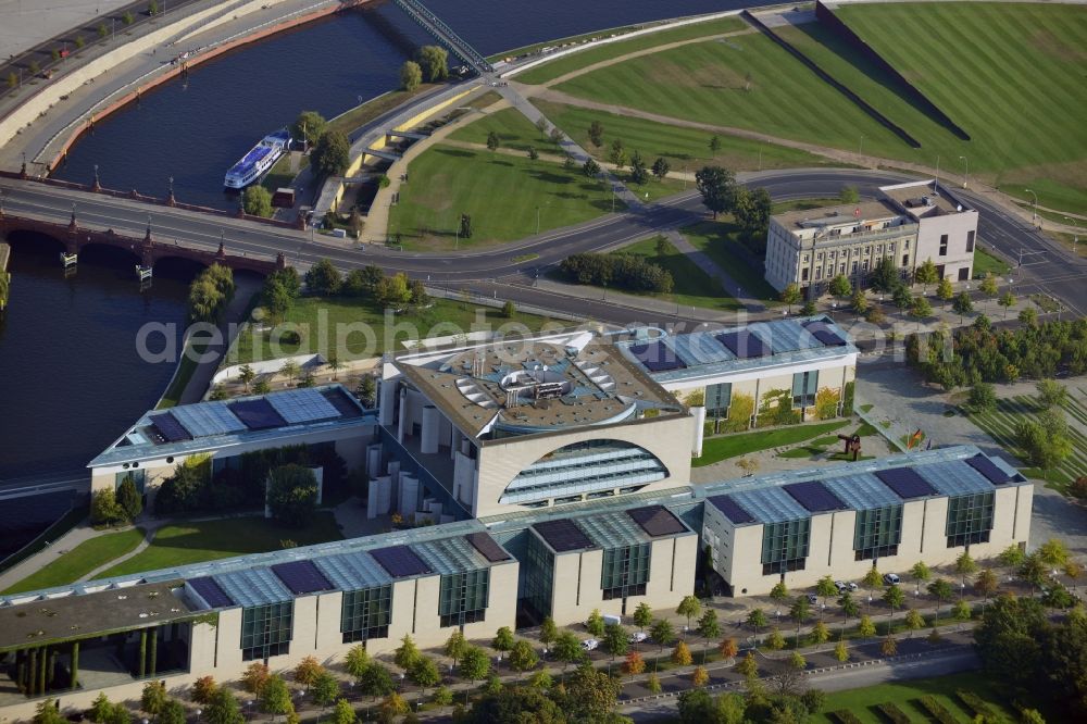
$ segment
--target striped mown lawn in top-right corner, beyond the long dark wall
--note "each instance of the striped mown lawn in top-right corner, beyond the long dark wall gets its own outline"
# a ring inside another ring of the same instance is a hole
[[[971,175],[1002,191],[1029,199],[1032,188],[1041,205],[1087,211],[1087,8],[940,2],[835,13],[970,134],[964,142],[917,125],[927,163],[939,153],[958,174],[966,155]]]

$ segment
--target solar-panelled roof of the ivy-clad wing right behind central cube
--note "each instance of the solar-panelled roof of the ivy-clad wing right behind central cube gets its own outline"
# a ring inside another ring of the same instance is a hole
[[[652,333],[658,334],[650,337]],[[649,347],[648,341],[658,347]],[[616,347],[632,364],[662,385],[858,353],[849,333],[822,314],[683,335],[644,328],[635,330],[634,339],[617,342]],[[655,359],[675,360],[678,364],[655,365],[654,358],[649,357],[653,349],[660,350]]]

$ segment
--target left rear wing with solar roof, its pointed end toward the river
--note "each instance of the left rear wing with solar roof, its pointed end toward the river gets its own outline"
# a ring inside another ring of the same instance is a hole
[[[376,427],[376,413],[342,385],[151,410],[88,463],[91,491],[130,477],[137,490],[153,494],[189,458],[209,457],[214,474],[239,465],[246,453],[299,445],[330,448],[355,467]]]

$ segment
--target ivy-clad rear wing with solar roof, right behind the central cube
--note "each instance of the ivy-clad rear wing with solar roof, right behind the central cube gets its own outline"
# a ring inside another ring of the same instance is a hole
[[[852,412],[858,350],[827,316],[633,337],[616,346],[719,432]]]

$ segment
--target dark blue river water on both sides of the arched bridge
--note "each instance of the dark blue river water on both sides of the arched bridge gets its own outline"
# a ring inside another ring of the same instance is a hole
[[[742,4],[760,4],[747,2]],[[741,7],[714,0],[428,0],[484,54],[633,23]],[[392,4],[337,15],[197,67],[101,122],[58,176],[234,208],[223,174],[261,136],[302,110],[326,117],[392,89],[430,42]],[[147,364],[148,322],[180,323],[192,267],[155,267],[140,294],[132,258],[87,250],[64,278],[59,247],[13,238],[11,303],[0,323],[0,483],[80,467],[162,394],[173,374]]]

